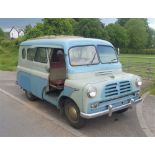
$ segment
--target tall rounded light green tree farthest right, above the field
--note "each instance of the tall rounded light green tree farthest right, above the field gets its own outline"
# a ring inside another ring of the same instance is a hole
[[[145,48],[148,42],[147,26],[143,19],[130,19],[125,24],[129,35],[129,48]]]

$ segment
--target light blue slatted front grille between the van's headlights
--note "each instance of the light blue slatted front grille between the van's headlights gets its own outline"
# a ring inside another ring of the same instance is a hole
[[[131,91],[131,84],[129,81],[121,81],[111,83],[105,86],[105,97],[113,97],[116,95],[123,95]]]

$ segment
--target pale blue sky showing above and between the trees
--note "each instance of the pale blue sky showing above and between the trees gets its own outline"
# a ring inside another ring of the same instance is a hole
[[[116,20],[116,18],[102,18],[102,22],[105,23],[105,25],[114,23]],[[26,25],[31,24],[34,26],[41,21],[41,18],[0,18],[0,27],[4,31],[10,31],[13,26],[24,28]],[[155,18],[148,18],[148,23],[151,28],[155,29]]]

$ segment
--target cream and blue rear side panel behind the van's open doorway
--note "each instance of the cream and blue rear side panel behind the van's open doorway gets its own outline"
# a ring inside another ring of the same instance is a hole
[[[17,83],[22,89],[30,91],[33,95],[42,99],[43,89],[48,85],[48,63],[43,64],[22,59],[22,48],[19,49]],[[28,47],[24,48],[27,49]]]

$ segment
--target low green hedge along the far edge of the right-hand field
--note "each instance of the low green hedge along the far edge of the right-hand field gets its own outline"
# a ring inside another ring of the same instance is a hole
[[[120,49],[120,53],[122,54],[150,54],[155,55],[155,49],[129,49],[123,48]]]

